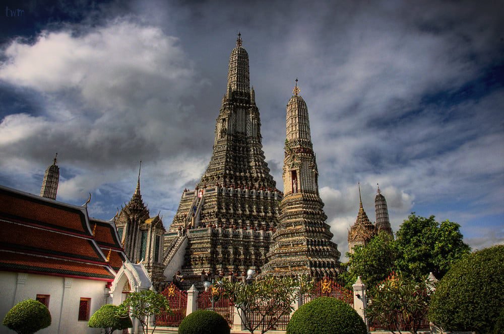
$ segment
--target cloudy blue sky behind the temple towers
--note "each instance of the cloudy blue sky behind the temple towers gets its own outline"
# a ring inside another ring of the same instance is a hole
[[[21,16],[10,11],[20,9]],[[334,241],[376,183],[408,214],[504,242],[502,2],[4,2],[0,184],[38,194],[58,152],[58,200],[110,219],[133,194],[171,223],[210,159],[240,31],[277,187],[294,79],[308,105]]]

